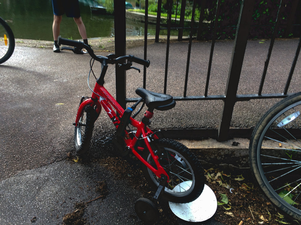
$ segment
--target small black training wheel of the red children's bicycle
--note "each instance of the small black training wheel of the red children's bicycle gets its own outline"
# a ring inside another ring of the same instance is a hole
[[[146,224],[156,223],[159,217],[156,205],[147,198],[139,198],[135,202],[135,212]]]

